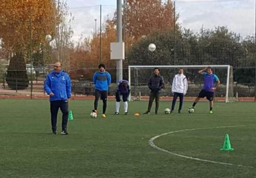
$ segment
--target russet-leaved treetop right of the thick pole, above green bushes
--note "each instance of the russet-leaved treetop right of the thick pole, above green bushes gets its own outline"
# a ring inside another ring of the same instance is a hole
[[[124,33],[132,40],[156,31],[173,29],[176,23],[171,1],[126,0],[124,4]]]

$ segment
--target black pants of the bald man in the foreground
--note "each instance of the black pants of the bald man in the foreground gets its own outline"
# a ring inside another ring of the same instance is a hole
[[[62,112],[62,130],[67,129],[68,102],[67,100],[51,101],[52,131],[56,131],[58,108]]]

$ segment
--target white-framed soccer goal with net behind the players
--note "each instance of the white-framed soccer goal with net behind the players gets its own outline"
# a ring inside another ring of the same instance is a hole
[[[215,91],[216,100],[232,102],[233,95],[233,68],[229,65],[208,65],[213,68],[213,72],[219,77],[220,85]],[[160,74],[164,77],[165,90],[162,96],[171,96],[171,85],[174,76],[179,68],[184,69],[184,75],[188,80],[188,92],[186,97],[198,96],[203,88],[203,77],[198,73],[199,70],[208,67],[198,66],[129,66],[129,82],[131,87],[130,100],[140,100],[141,97],[149,95],[147,82],[153,75],[154,68],[160,69]]]

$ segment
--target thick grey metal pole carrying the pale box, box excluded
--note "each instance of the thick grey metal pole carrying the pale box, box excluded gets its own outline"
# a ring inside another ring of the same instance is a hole
[[[122,42],[122,0],[117,0],[116,42]],[[116,83],[122,80],[122,59],[116,60]]]

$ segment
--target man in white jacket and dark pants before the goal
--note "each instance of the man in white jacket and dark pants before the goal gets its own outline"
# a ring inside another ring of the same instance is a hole
[[[177,98],[180,98],[180,106],[178,112],[181,113],[181,108],[183,105],[183,97],[186,95],[186,91],[188,90],[188,81],[186,80],[186,76],[183,74],[183,68],[180,68],[178,74],[173,78],[173,85],[171,87],[171,92],[173,93],[173,103],[171,105],[171,113],[174,112],[174,107]]]

